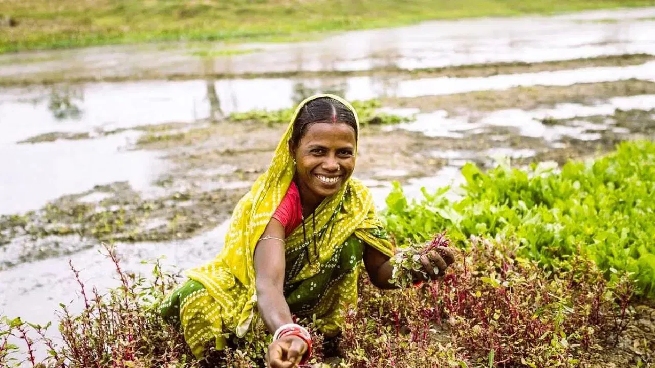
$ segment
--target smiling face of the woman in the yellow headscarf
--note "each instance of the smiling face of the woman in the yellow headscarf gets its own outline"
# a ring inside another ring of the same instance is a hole
[[[301,190],[323,199],[337,193],[355,167],[355,132],[343,122],[316,122],[291,147]]]

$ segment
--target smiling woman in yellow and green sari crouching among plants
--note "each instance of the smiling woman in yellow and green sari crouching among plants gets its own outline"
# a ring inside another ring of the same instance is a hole
[[[228,337],[245,337],[261,318],[274,335],[268,366],[294,367],[309,358],[311,342],[291,314],[313,316],[334,336],[344,309],[357,302],[362,263],[373,285],[395,287],[392,244],[369,190],[350,177],[358,136],[356,112],[337,96],[297,107],[271,166],[234,209],[221,253],[187,271],[191,280],[162,304],[196,356],[208,344],[221,350]],[[448,249],[429,256],[421,259],[428,278],[454,259]]]

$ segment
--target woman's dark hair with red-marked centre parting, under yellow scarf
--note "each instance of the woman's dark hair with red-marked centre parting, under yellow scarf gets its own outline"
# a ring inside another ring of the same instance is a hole
[[[307,129],[316,122],[345,122],[355,131],[355,139],[357,139],[357,123],[352,111],[333,98],[320,97],[305,103],[300,109],[293,121],[291,144],[298,147]]]

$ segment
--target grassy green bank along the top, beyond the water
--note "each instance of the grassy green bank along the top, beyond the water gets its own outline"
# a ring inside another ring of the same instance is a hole
[[[290,41],[423,20],[653,5],[652,0],[5,0],[0,52],[153,41]]]

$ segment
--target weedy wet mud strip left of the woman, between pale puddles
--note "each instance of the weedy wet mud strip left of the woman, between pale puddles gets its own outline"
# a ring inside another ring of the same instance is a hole
[[[244,189],[160,193],[144,198],[128,183],[113,183],[63,196],[41,210],[0,215],[0,270],[100,242],[191,238],[225,221]]]

